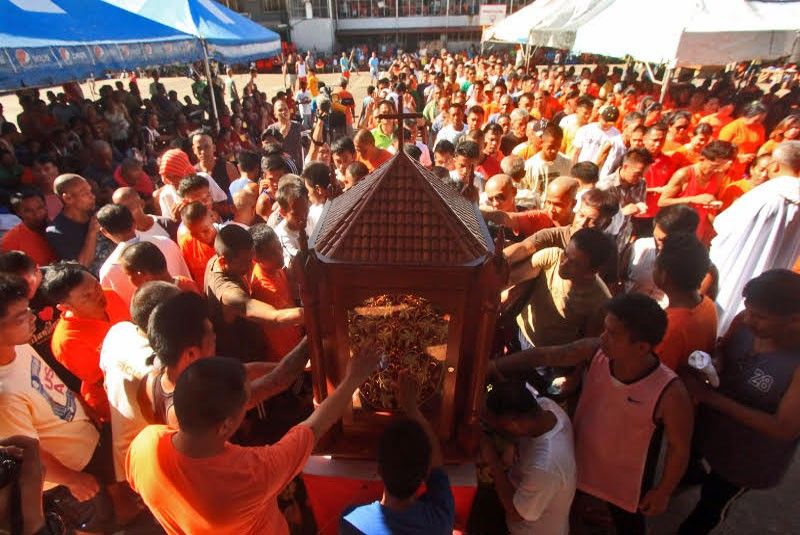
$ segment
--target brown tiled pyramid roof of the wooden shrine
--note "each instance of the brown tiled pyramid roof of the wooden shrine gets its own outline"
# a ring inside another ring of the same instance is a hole
[[[326,205],[309,242],[361,264],[480,263],[494,245],[477,207],[404,152]]]

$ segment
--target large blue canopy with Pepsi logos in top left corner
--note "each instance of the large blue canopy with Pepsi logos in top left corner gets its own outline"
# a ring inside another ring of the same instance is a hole
[[[0,0],[0,91],[201,57],[193,37],[101,0]]]

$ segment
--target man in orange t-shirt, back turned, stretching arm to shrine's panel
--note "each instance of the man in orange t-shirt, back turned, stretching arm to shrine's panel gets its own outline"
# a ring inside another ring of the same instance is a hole
[[[149,426],[136,437],[128,452],[128,481],[170,534],[288,534],[278,494],[377,363],[374,351],[356,353],[342,383],[311,416],[277,443],[248,448],[229,442],[250,399],[244,366],[234,359],[200,359],[177,378],[173,407],[179,428]]]

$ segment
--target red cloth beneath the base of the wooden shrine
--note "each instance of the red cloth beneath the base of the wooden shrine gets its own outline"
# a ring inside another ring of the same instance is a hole
[[[445,466],[445,472],[450,477],[456,502],[456,530],[464,530],[478,489],[475,465]],[[383,494],[383,483],[374,461],[313,455],[303,469],[303,482],[317,522],[317,532],[322,535],[339,532],[339,520],[348,506],[379,500]]]

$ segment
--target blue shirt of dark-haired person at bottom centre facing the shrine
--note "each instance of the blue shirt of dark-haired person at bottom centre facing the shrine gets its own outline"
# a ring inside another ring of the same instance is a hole
[[[434,468],[425,482],[427,490],[411,507],[393,511],[379,501],[346,510],[339,525],[342,535],[439,535],[453,533],[456,505],[450,479]]]

